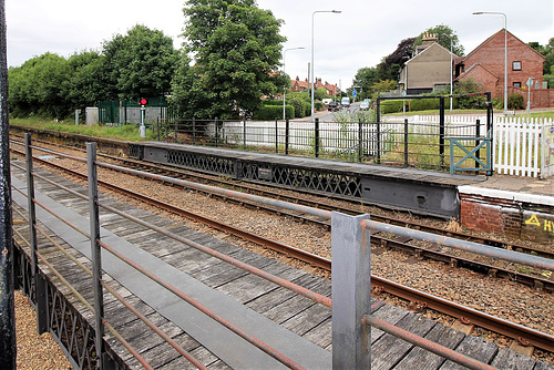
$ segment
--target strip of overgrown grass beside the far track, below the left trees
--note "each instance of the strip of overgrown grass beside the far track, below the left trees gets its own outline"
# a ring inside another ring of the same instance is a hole
[[[146,130],[146,137],[141,137],[138,126],[135,124],[125,124],[120,126],[102,126],[102,125],[75,125],[69,122],[53,122],[44,119],[10,119],[10,124],[18,126],[28,126],[42,130],[51,130],[65,132],[70,134],[80,134],[94,137],[115,138],[130,142],[155,140],[155,134],[152,130]]]

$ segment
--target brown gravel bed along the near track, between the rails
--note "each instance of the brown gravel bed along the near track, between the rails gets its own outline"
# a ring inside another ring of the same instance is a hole
[[[82,156],[81,154],[75,154]],[[84,164],[70,160],[54,160],[57,164],[69,168],[83,168]],[[175,204],[189,212],[202,214],[235,227],[249,230],[270,239],[301,248],[304,250],[330,258],[330,233],[324,228],[300,224],[289,218],[267,215],[255,209],[229,205],[218,199],[208,198],[196,192],[182,189],[178,187],[164,186],[163,188],[155,182],[131,177],[104,168],[99,168],[100,178],[126,188],[131,188],[141,194],[155,197],[157,199]],[[162,191],[161,191],[162,189]],[[102,191],[102,189],[101,189]],[[112,196],[119,196],[112,194]],[[135,205],[144,207],[134,201]],[[152,212],[152,209],[150,209]],[[220,232],[208,230],[207,227],[197,223],[182,219],[164,212],[154,210],[165,217],[170,217],[185,224],[188,227],[201,229],[218,237],[228,237]],[[435,219],[430,220],[434,225]],[[444,223],[444,227],[447,224]],[[304,266],[301,263],[293,261],[279,254],[260,250],[261,248],[242,239],[233,238],[236,245],[256,250],[266,256],[273,256],[285,261],[290,261],[297,267],[309,269],[326,276],[327,274],[316,271]],[[418,260],[404,254],[376,249],[372,254],[372,274],[403,284],[419,290],[442,297],[480,311],[524,325],[526,327],[554,335],[554,296],[544,291],[534,290],[515,281],[506,279],[485,278],[484,276],[465,269],[452,268],[450,266]],[[399,306],[407,306],[407,302],[390,298],[390,301]],[[425,316],[437,319],[445,325],[452,325],[453,319],[437,312],[424,312]],[[510,345],[510,339],[475,330],[488,340],[494,341],[501,347]],[[475,333],[474,331],[474,333]],[[554,364],[553,353],[546,353],[535,349],[534,358]]]

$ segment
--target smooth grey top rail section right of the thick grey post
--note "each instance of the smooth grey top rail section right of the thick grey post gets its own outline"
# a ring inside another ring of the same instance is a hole
[[[391,233],[398,236],[404,236],[412,239],[428,241],[438,244],[441,246],[455,248],[460,250],[465,250],[474,253],[476,255],[497,258],[514,264],[522,264],[526,266],[533,266],[536,268],[542,268],[545,270],[554,271],[554,260],[548,258],[543,258],[538,256],[527,255],[519,251],[506,250],[502,248],[491,247],[483,244],[466,241],[461,239],[455,239],[452,237],[431,234],[427,232],[416,230],[411,228],[406,228],[401,226],[394,226],[390,224],[378,223],[375,220],[366,219],[362,222],[362,226],[371,230]]]

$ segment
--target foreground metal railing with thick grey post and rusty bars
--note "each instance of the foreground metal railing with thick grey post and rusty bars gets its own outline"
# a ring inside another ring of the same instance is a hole
[[[63,339],[62,335],[57,337],[62,346],[65,346],[65,352],[70,358],[72,364],[76,368],[109,368],[114,362],[120,362],[113,351],[110,349],[104,338],[104,330],[107,329],[114,338],[116,338],[136,359],[140,363],[142,363],[145,368],[150,368],[147,362],[141,357],[137,350],[132,348],[132,345],[127,343],[126,340],[121,336],[115,329],[114,325],[106,320],[103,305],[103,289],[113,294],[114,297],[122,302],[127,309],[130,309],[134,315],[136,315],[141,320],[143,320],[152,330],[154,330],[157,335],[163,338],[164,341],[170,343],[178,353],[188,359],[194,366],[198,368],[203,368],[204,366],[199,363],[194,357],[192,357],[186,350],[181,348],[177,343],[173,342],[167,335],[165,335],[160,328],[157,328],[153,322],[148,321],[148,319],[142,315],[137,309],[135,309],[129,301],[126,301],[123,297],[121,297],[115,289],[113,289],[104,279],[103,279],[103,270],[102,270],[102,260],[101,260],[101,250],[104,249],[111,253],[116,258],[123,260],[125,264],[132,266],[143,275],[147,276],[152,280],[156,281],[158,285],[168,289],[177,297],[182,298],[193,307],[203,311],[208,317],[217,320],[220,325],[225,326],[229,330],[234,331],[248,342],[255,345],[264,352],[268,353],[273,358],[283,362],[287,367],[294,369],[300,369],[301,366],[295,363],[293,360],[279,353],[277,350],[270,348],[269,346],[263,343],[260,340],[255,338],[254,336],[245,332],[243,329],[235,326],[233,322],[225,320],[218,317],[211,308],[203,306],[198,301],[194,300],[185,292],[178,290],[175,287],[172,287],[171,284],[162,279],[160,276],[154,275],[152,271],[146,270],[143,266],[132,261],[129,257],[122,255],[116,251],[113,247],[111,247],[107,243],[102,240],[100,236],[100,220],[99,220],[99,209],[103,208],[107,212],[117,214],[122,217],[125,217],[129,220],[134,223],[138,223],[142,226],[151,228],[161,235],[170,237],[179,243],[184,243],[185,245],[202,250],[203,253],[208,254],[209,256],[216,257],[220,260],[224,260],[230,265],[237,266],[250,274],[254,274],[258,277],[261,277],[266,280],[275,282],[279,286],[283,286],[291,291],[299,294],[304,297],[312,299],[316,302],[322,304],[327,307],[332,308],[332,363],[335,368],[352,368],[352,369],[362,369],[369,368],[371,363],[371,343],[368,337],[370,335],[369,325],[379,327],[383,330],[389,330],[393,332],[396,336],[398,335],[400,338],[408,338],[412,341],[412,343],[423,347],[428,350],[435,352],[439,356],[445,357],[455,361],[458,363],[469,366],[474,366],[475,369],[488,369],[486,364],[475,363],[475,361],[468,359],[459,353],[452,353],[450,350],[441,348],[435,343],[429,343],[423,338],[414,337],[413,335],[402,333],[402,331],[394,331],[396,329],[389,329],[389,327],[379,320],[375,320],[371,318],[371,282],[370,282],[370,267],[371,267],[371,256],[370,256],[370,233],[369,230],[379,230],[383,233],[391,233],[399,236],[406,236],[418,240],[434,243],[441,246],[448,246],[451,248],[456,248],[461,250],[466,250],[475,254],[480,254],[483,256],[494,257],[516,264],[523,264],[529,266],[534,266],[537,268],[554,270],[554,261],[533,256],[521,254],[512,250],[505,250],[494,247],[489,247],[484,245],[480,245],[476,243],[459,240],[450,237],[438,236],[430,233],[424,233],[420,230],[408,229],[399,226],[393,226],[390,224],[382,224],[372,222],[369,219],[369,215],[361,216],[348,216],[340,213],[331,213],[328,210],[310,208],[306,206],[300,206],[296,204],[289,204],[281,201],[273,201],[267,199],[260,196],[247,195],[238,192],[233,192],[228,189],[219,189],[219,192],[224,192],[225,194],[233,193],[234,196],[248,198],[252,202],[273,204],[275,206],[285,207],[288,209],[295,209],[316,215],[318,217],[330,218],[331,219],[331,253],[334,256],[332,259],[332,301],[330,298],[321,296],[319,294],[312,292],[301,286],[295,285],[290,281],[276,277],[274,275],[267,274],[258,268],[252,267],[245,263],[234,259],[233,257],[219,254],[211,248],[207,248],[203,245],[199,245],[195,241],[186,239],[182,236],[170,233],[161,227],[152,225],[147,222],[141,220],[132,215],[125,214],[124,212],[117,210],[114,207],[109,206],[107,204],[103,204],[99,201],[98,194],[98,173],[96,166],[105,167],[105,168],[115,168],[117,166],[100,163],[95,157],[95,144],[88,144],[88,160],[78,158],[69,155],[64,155],[58,153],[57,155],[88,163],[88,173],[89,173],[89,195],[84,196],[78,192],[74,192],[70,188],[66,188],[60,184],[57,184],[53,181],[50,181],[39,174],[35,174],[32,168],[32,148],[30,134],[25,134],[25,153],[27,153],[27,168],[19,167],[22,171],[27,172],[27,194],[28,197],[28,216],[25,216],[22,212],[17,210],[22,218],[27,219],[29,224],[29,244],[30,247],[30,268],[29,271],[32,275],[31,279],[24,278],[23,284],[27,284],[29,287],[29,291],[32,291],[34,297],[32,297],[33,304],[35,305],[35,309],[38,312],[38,329],[40,332],[47,331],[50,328],[52,331],[52,323],[59,322],[55,318],[57,309],[52,309],[52,307],[57,307],[55,304],[52,304],[52,300],[59,299],[58,292],[49,292],[51,288],[49,288],[49,282],[47,281],[44,275],[41,273],[39,265],[43,264],[48,267],[57,277],[65,285],[78,299],[91,311],[94,314],[93,327],[91,327],[91,332],[93,335],[86,336],[83,335],[83,339],[81,340],[84,343],[90,343],[92,349],[90,350],[74,350],[72,349],[74,345],[73,342],[69,342],[68,339]],[[124,169],[122,167],[117,167],[117,169]],[[127,173],[141,173],[133,169],[125,169]],[[166,182],[178,182],[187,183],[186,185],[189,187],[211,187],[208,185],[199,185],[189,182],[171,179],[170,177],[164,177],[160,175],[150,175],[152,178],[164,179]],[[76,197],[82,199],[88,199],[89,202],[89,210],[90,210],[90,229],[84,230],[75,225],[73,225],[70,220],[68,220],[62,215],[55,214],[52,209],[49,209],[44,204],[41,204],[35,199],[34,196],[34,182],[35,179],[45,181],[51,185],[54,185]],[[14,188],[20,192],[19,189]],[[211,187],[213,189],[213,187]],[[37,212],[35,206],[41,207],[43,210],[48,212],[50,215],[59,218],[69,227],[75,229],[78,233],[86,236],[91,240],[91,261],[92,268],[85,267],[85,264],[79,261],[78,258],[71,256],[71,254],[66,253],[65,249],[60,246],[59,243],[54,240],[54,238],[50,237],[48,233],[42,230],[41,227],[38,226],[37,220]],[[16,209],[16,208],[14,208]],[[42,237],[47,238],[50,244],[60,249],[68,258],[70,258],[84,274],[89,276],[91,279],[91,285],[93,286],[94,291],[94,301],[90,304],[80,291],[76,291],[75,288],[57,270],[57,266],[53,266],[48,258],[43,256],[41,250],[38,248],[38,236],[37,233],[40,233]],[[16,233],[18,235],[18,239],[27,240],[21,233]],[[25,282],[27,281],[27,282]],[[58,326],[60,326],[59,323]],[[84,325],[84,323],[83,323]],[[58,328],[60,329],[60,328]],[[392,330],[392,331],[391,331]],[[54,330],[55,331],[55,330]],[[72,335],[73,337],[73,335]],[[76,354],[75,354],[76,353]],[[92,356],[91,353],[95,353]]]

